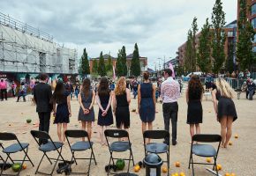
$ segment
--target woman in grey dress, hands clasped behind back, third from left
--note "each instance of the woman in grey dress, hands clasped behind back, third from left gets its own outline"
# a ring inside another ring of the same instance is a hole
[[[87,128],[89,138],[92,137],[92,122],[95,121],[94,99],[95,92],[91,88],[91,81],[89,78],[85,78],[79,92],[79,121],[82,123],[82,129]]]

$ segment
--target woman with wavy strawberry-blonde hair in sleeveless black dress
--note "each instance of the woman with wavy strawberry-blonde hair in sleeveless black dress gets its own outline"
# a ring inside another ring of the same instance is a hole
[[[116,115],[117,128],[125,130],[130,128],[130,102],[130,90],[126,88],[125,78],[120,77],[113,92],[113,112]]]

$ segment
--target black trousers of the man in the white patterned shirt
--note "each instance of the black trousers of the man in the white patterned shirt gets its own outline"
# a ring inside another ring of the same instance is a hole
[[[162,104],[164,129],[167,131],[169,131],[169,119],[171,120],[172,142],[176,142],[177,140],[177,112],[178,112],[177,102]]]

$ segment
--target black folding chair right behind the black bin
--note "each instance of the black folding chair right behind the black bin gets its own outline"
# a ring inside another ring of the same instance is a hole
[[[168,143],[147,143],[146,138],[150,139],[165,139]],[[168,175],[169,175],[169,132],[166,130],[146,130],[143,133],[143,141],[144,141],[144,150],[145,157],[148,153],[166,153],[166,161],[168,165]]]

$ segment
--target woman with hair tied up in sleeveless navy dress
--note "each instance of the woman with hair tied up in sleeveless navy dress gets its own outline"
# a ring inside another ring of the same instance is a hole
[[[149,73],[145,71],[143,73],[144,81],[138,87],[138,110],[140,120],[142,121],[142,134],[147,129],[153,129],[155,116],[155,87],[148,78]],[[147,143],[150,143],[150,139],[147,139]]]

